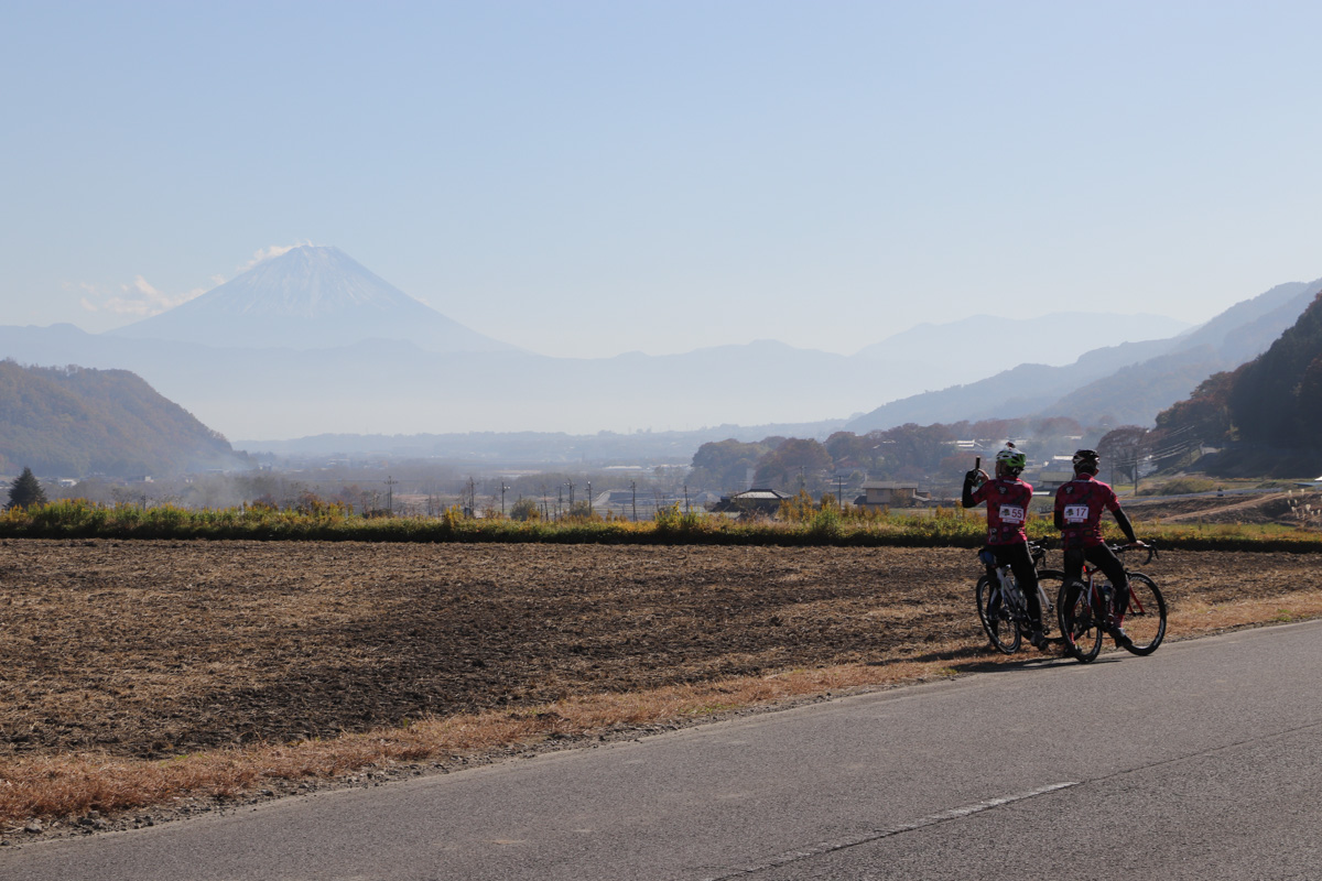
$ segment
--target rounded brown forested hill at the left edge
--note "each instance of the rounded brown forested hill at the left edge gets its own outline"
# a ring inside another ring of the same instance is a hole
[[[221,435],[127,370],[0,362],[0,473],[132,477],[239,461]]]

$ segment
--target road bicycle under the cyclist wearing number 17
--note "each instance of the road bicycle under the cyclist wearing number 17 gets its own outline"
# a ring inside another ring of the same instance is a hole
[[[1108,544],[1116,556],[1137,546]],[[1147,546],[1147,563],[1157,556],[1157,548]],[[1084,564],[1083,579],[1060,585],[1056,602],[1060,634],[1066,652],[1079,663],[1088,663],[1101,651],[1101,641],[1108,633],[1124,627],[1128,639],[1116,643],[1136,655],[1150,655],[1166,638],[1166,598],[1157,584],[1142,572],[1125,569],[1129,577],[1128,602],[1118,604],[1114,588],[1097,567]]]

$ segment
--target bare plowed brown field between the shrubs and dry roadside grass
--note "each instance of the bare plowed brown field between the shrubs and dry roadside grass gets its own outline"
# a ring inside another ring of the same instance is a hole
[[[1319,564],[1170,551],[1142,568],[1174,616],[1311,588]],[[0,758],[160,758],[773,670],[985,658],[978,573],[968,549],[8,540]]]

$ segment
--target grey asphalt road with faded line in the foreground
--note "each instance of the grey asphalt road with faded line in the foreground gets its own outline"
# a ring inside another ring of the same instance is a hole
[[[0,852],[5,881],[1318,878],[1322,622]]]

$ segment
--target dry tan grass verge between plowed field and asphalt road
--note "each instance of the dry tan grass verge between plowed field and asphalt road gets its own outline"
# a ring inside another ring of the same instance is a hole
[[[1322,594],[1301,590],[1265,600],[1173,610],[1169,638],[1322,618]],[[547,738],[582,738],[611,729],[673,724],[722,712],[845,689],[891,687],[954,676],[988,663],[1022,662],[988,652],[968,662],[966,641],[927,645],[917,660],[787,670],[697,686],[571,697],[516,712],[428,719],[332,740],[196,753],[165,761],[77,754],[0,765],[0,827],[167,804],[185,796],[233,798],[272,781],[336,778],[398,762],[449,761],[527,748]],[[945,659],[943,659],[943,656]]]

